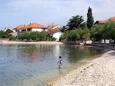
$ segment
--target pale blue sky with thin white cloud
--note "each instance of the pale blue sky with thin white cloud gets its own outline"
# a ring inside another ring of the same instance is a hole
[[[89,6],[95,21],[115,16],[115,0],[0,0],[0,28],[30,22],[63,26],[75,15],[86,20]]]

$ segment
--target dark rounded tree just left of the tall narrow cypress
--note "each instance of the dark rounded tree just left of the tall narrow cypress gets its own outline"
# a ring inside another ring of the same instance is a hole
[[[67,26],[69,27],[69,30],[79,28],[82,25],[83,21],[84,19],[82,16],[73,16],[71,19],[69,19]]]

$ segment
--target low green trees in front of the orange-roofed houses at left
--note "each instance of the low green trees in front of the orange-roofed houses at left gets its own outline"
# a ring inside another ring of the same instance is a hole
[[[19,41],[54,41],[53,38],[48,32],[23,32],[17,34],[17,36],[12,36],[11,29],[6,29],[5,31],[0,31],[0,38],[7,38],[9,40],[19,40]]]

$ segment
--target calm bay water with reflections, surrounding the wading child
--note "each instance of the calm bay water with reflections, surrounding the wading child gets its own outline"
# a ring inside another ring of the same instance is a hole
[[[0,45],[0,86],[44,86],[63,73],[102,54],[94,48],[67,45]]]

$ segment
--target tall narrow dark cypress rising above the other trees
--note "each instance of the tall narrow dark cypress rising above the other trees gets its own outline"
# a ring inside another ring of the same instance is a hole
[[[88,8],[88,13],[87,13],[87,27],[91,28],[94,24],[94,19],[92,15],[92,9],[89,7]]]

